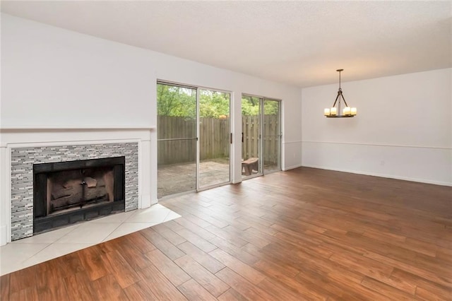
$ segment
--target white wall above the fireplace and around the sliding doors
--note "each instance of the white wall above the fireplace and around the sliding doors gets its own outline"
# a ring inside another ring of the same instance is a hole
[[[11,129],[52,128],[64,137],[64,131],[55,129],[156,126],[157,79],[232,92],[234,182],[242,179],[242,93],[283,100],[283,169],[301,165],[301,89],[4,13],[1,14],[0,154],[3,155],[0,163],[8,165],[3,161],[7,157],[5,149],[11,143],[8,141]],[[143,166],[143,172],[150,174],[146,177],[149,182],[143,185],[149,185],[154,191],[152,202],[157,201],[156,135],[155,130],[150,130],[150,160]],[[0,175],[0,180],[4,178]],[[3,192],[0,195],[8,196]],[[3,201],[0,200],[0,208]],[[0,214],[0,228],[5,224],[5,217]]]

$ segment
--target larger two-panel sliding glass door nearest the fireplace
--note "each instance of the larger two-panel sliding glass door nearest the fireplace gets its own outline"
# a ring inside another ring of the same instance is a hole
[[[157,197],[230,182],[230,93],[157,83]]]

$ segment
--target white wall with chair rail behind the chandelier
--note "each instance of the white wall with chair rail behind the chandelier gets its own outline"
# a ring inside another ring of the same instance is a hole
[[[302,89],[302,165],[452,185],[451,83],[452,69],[343,82],[346,119],[323,117],[338,84]]]

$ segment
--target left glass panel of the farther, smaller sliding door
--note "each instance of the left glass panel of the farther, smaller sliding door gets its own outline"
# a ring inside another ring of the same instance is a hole
[[[242,95],[242,177],[261,175],[261,100]]]

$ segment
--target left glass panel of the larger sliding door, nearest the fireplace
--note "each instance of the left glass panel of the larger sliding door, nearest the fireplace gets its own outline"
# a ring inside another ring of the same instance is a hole
[[[196,88],[157,83],[157,197],[196,189]]]

